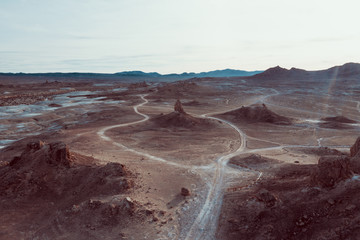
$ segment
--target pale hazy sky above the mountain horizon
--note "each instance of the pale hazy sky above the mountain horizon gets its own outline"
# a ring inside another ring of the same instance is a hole
[[[0,0],[0,72],[360,62],[358,0]]]

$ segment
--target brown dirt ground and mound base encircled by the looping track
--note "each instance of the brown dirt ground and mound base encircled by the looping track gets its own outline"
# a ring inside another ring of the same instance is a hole
[[[115,128],[108,134],[126,147],[183,164],[204,163],[217,152],[231,151],[239,144],[236,133],[221,122],[177,111],[136,126]]]

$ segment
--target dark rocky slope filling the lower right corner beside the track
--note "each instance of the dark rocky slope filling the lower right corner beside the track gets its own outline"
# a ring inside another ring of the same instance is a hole
[[[334,152],[317,165],[259,155],[232,159],[230,164],[263,171],[264,177],[252,188],[225,195],[218,238],[358,239],[359,139],[350,156]]]

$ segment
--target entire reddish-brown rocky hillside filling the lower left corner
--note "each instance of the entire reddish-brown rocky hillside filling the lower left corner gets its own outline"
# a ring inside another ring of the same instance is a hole
[[[42,141],[3,161],[1,239],[121,239],[127,226],[154,217],[127,197],[133,177],[124,165],[95,163],[62,142]],[[9,227],[10,219],[17,224]]]

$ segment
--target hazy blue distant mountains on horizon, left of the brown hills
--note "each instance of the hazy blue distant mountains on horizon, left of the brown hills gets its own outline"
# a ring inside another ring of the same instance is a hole
[[[204,77],[245,77],[259,74],[262,71],[242,71],[242,70],[216,70],[210,72],[201,72],[201,73],[181,73],[181,74],[160,74],[157,72],[145,73],[142,71],[127,71],[127,72],[118,72],[113,74],[106,73],[0,73],[1,76],[8,77],[31,77],[38,79],[47,79],[51,78],[54,80],[65,78],[71,79],[81,79],[81,80],[91,80],[91,79],[104,79],[104,80],[132,80],[132,81],[177,81],[184,80],[189,78],[204,78]]]

